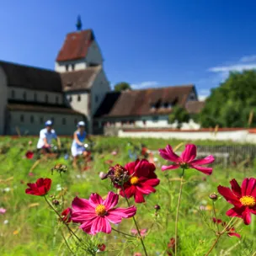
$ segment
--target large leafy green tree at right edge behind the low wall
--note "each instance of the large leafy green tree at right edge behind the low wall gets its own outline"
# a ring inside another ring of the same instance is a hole
[[[256,71],[231,72],[218,88],[211,89],[199,115],[203,127],[256,127]]]

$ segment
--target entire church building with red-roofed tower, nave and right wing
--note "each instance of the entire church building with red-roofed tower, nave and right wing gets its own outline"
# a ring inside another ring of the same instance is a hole
[[[50,119],[59,135],[71,135],[79,120],[94,134],[104,125],[165,126],[173,105],[202,107],[193,85],[113,92],[103,61],[93,30],[81,24],[67,34],[55,71],[0,61],[0,134],[37,135]]]

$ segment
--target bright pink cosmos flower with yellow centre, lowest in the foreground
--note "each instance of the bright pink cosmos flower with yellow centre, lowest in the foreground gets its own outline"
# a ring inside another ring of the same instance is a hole
[[[81,223],[80,228],[88,234],[95,235],[98,232],[111,232],[109,222],[119,224],[122,218],[135,216],[136,207],[114,208],[119,196],[110,191],[105,200],[96,193],[89,200],[76,197],[72,201],[72,221]]]

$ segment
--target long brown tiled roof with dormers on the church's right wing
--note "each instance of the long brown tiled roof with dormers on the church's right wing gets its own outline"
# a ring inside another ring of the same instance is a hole
[[[189,93],[193,90],[195,91],[194,85],[184,85],[107,93],[94,116],[168,115],[172,112],[168,104],[185,107]]]

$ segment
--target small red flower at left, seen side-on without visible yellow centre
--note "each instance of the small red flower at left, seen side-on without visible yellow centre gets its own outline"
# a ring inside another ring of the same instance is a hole
[[[51,179],[37,179],[36,183],[28,183],[29,189],[26,189],[26,194],[29,195],[46,195],[51,189]]]

